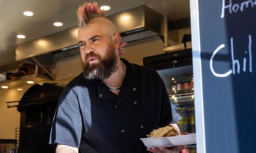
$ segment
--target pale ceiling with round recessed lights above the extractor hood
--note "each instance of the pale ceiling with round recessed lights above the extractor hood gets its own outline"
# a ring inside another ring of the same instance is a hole
[[[96,0],[95,0],[96,1]],[[0,0],[0,65],[15,60],[17,44],[56,33],[77,24],[76,9],[85,0]],[[97,0],[99,5],[109,5],[111,15],[142,4],[166,13],[172,19],[189,16],[189,0]],[[34,16],[22,13],[32,11]],[[52,26],[53,22],[63,22],[62,27]],[[26,35],[18,39],[16,35]]]

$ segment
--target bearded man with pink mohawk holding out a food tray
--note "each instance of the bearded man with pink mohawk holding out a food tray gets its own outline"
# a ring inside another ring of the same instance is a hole
[[[180,117],[155,71],[120,58],[121,36],[97,3],[78,8],[83,73],[63,90],[50,144],[57,153],[179,152],[145,148],[139,138]]]

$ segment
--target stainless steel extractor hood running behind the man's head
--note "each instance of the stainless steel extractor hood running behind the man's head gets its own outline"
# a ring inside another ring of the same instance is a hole
[[[122,11],[107,18],[115,24],[124,42],[163,34],[163,16],[146,5]],[[77,29],[77,27],[72,27],[19,44],[15,50],[16,61],[76,46]]]

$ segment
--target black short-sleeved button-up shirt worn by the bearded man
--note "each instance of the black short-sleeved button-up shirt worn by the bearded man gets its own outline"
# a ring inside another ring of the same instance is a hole
[[[118,96],[104,82],[86,80],[83,74],[65,87],[50,144],[76,147],[81,153],[143,153],[147,149],[139,138],[180,119],[158,73],[122,61],[127,68]]]

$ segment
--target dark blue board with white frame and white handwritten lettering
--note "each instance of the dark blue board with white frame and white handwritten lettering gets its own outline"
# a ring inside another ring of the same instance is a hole
[[[255,152],[256,0],[190,5],[198,150]]]

